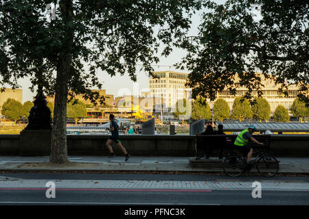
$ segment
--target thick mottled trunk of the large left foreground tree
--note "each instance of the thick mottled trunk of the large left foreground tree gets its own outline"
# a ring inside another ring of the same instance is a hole
[[[67,159],[67,94],[71,68],[73,45],[73,7],[71,0],[60,1],[62,23],[65,25],[62,50],[58,55],[56,92],[54,106],[54,125],[52,129],[52,148],[49,162],[64,164]]]

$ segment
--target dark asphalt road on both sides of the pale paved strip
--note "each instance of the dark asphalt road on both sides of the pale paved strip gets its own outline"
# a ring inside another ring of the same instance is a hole
[[[37,181],[58,180],[138,180],[143,181],[269,181],[309,183],[309,177],[247,176],[229,178],[216,175],[145,175],[145,174],[32,174],[1,173],[0,179],[23,179]],[[3,185],[3,184],[2,184]],[[126,190],[62,188],[56,190],[55,198],[47,198],[47,188],[1,188],[0,205],[309,205],[309,190],[262,190],[260,198],[253,198],[252,190]]]

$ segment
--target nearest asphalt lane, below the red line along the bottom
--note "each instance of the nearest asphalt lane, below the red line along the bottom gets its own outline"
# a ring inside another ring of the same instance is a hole
[[[46,198],[45,190],[0,191],[1,205],[308,205],[309,192],[265,191],[253,198],[248,190],[211,192],[122,192],[69,190]]]

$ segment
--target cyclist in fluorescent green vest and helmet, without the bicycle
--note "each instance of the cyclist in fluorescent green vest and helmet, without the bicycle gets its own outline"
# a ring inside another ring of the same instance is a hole
[[[234,147],[244,154],[247,164],[250,164],[250,159],[253,154],[253,149],[251,148],[251,146],[247,145],[249,140],[255,142],[256,144],[263,145],[263,143],[258,142],[257,140],[255,140],[255,138],[252,137],[252,134],[255,131],[256,127],[254,125],[249,125],[248,129],[244,129],[238,134],[234,142]]]

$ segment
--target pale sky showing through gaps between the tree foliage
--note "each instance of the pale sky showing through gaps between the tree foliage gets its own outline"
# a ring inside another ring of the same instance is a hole
[[[224,1],[216,1],[217,3]],[[201,10],[193,14],[192,16],[192,26],[187,33],[187,36],[197,36],[198,35],[198,25],[201,23],[202,16],[201,14],[205,12]],[[168,57],[161,57],[159,63],[154,64],[152,68],[155,71],[161,70],[172,70],[176,72],[189,73],[186,70],[180,70],[174,68],[174,64],[180,62],[182,57],[185,57],[186,51],[183,49],[174,48],[172,53]],[[139,70],[139,66],[137,66],[137,83],[134,83],[130,80],[128,75],[116,75],[111,77],[107,73],[104,73],[98,70],[98,78],[100,82],[103,82],[103,88],[106,90],[106,94],[113,94],[116,96],[122,96],[123,94],[136,94],[138,92],[140,94],[141,91],[148,90],[148,76],[144,71]],[[19,84],[21,89],[23,89],[23,103],[25,101],[33,101],[33,97],[36,96],[35,93],[31,92],[29,87],[31,86],[30,79],[24,78],[19,80]],[[135,90],[133,90],[133,87]],[[94,88],[95,89],[95,88]]]

